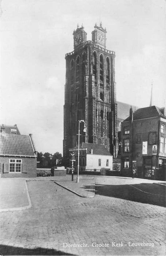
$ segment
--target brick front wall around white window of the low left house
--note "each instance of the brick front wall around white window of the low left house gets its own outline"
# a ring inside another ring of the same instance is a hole
[[[22,159],[22,173],[9,172],[9,159]],[[0,157],[0,174],[2,178],[36,177],[36,158]]]

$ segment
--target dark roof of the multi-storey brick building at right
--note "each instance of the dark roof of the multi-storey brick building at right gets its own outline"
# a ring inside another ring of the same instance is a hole
[[[150,106],[146,108],[137,109],[136,112],[133,113],[133,120],[157,116],[164,117],[164,115],[161,113],[157,106]],[[130,117],[127,117],[125,121],[128,120],[130,120]]]

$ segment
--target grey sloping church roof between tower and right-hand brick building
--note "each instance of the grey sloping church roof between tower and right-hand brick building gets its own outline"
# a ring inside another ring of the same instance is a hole
[[[129,116],[129,111],[132,105],[117,101],[117,118],[126,119]],[[137,106],[132,106],[133,111],[138,109]]]

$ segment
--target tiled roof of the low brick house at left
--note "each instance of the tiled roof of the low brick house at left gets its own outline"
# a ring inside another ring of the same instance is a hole
[[[30,136],[8,133],[0,133],[0,155],[36,156]]]

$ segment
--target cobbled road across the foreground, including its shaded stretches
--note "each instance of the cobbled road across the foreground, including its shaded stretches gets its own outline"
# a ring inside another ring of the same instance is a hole
[[[144,193],[137,180],[97,177],[96,196],[90,199],[53,181],[28,181],[32,207],[0,213],[0,252],[164,255],[165,187],[147,184]],[[71,247],[75,244],[82,247]]]

